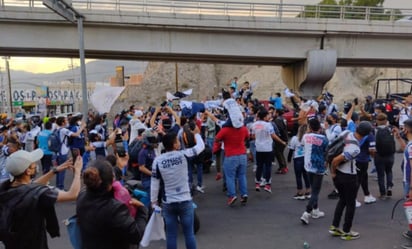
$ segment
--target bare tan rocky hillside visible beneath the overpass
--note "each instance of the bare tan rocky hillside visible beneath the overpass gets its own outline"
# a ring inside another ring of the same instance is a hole
[[[129,86],[112,108],[112,112],[128,108],[131,104],[144,107],[158,105],[165,100],[166,92],[176,91],[175,63],[151,62],[148,64],[143,83]],[[282,92],[286,87],[281,79],[281,67],[185,64],[178,63],[178,89],[193,88],[190,99],[204,100],[216,96],[237,76],[240,85],[244,81],[258,82],[254,97],[268,99],[271,93]],[[354,97],[373,95],[373,88],[380,78],[412,78],[412,69],[393,68],[338,68],[325,90],[335,95],[335,101],[343,103]]]

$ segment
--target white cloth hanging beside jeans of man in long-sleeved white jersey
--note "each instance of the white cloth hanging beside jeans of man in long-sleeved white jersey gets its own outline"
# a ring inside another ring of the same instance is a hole
[[[144,230],[143,238],[140,241],[140,245],[148,247],[150,241],[166,239],[165,223],[161,215],[161,208],[156,206],[153,210],[150,220]]]

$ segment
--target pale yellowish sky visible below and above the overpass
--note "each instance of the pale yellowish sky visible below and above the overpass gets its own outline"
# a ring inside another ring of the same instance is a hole
[[[253,2],[253,0],[226,0],[236,2]],[[282,0],[256,0],[256,2],[281,2]],[[284,4],[317,4],[320,0],[283,0]],[[411,9],[412,0],[385,0],[386,8]],[[86,62],[92,60],[86,60]],[[80,65],[78,58],[41,58],[41,57],[12,57],[9,65],[13,70],[23,70],[32,73],[54,73],[60,72]],[[0,70],[4,70],[5,63],[0,60]]]

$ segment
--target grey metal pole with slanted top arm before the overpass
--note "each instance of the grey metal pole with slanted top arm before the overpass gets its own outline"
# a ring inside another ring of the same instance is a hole
[[[87,81],[86,81],[86,63],[84,54],[84,16],[80,14],[71,4],[64,0],[43,0],[43,5],[53,10],[58,15],[72,23],[77,23],[77,31],[79,34],[79,57],[80,57],[80,78],[82,83],[82,112],[83,117],[87,117],[89,110],[87,102]]]

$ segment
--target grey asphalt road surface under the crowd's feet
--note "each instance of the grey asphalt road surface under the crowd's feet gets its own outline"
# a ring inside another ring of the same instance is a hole
[[[302,225],[299,218],[305,210],[306,201],[293,200],[295,180],[293,169],[287,175],[273,175],[273,193],[255,192],[253,189],[253,173],[249,167],[249,202],[242,207],[237,203],[233,208],[226,206],[226,197],[222,192],[222,182],[214,180],[214,173],[205,175],[206,193],[197,194],[194,199],[198,204],[198,215],[201,221],[197,234],[198,248],[264,248],[294,249],[303,248],[307,241],[310,248],[361,248],[361,249],[393,249],[408,243],[401,236],[407,228],[403,208],[397,207],[394,220],[391,211],[395,202],[402,197],[401,187],[401,154],[396,155],[394,166],[394,196],[390,200],[377,201],[375,204],[362,205],[356,209],[353,229],[360,232],[361,238],[355,241],[343,241],[331,237],[328,227],[332,222],[336,200],[327,199],[332,190],[329,177],[324,178],[320,194],[319,206],[326,213],[324,218],[311,220]],[[377,182],[369,177],[369,185],[373,195],[378,195]],[[358,200],[363,202],[360,191]],[[74,203],[58,204],[60,220],[74,213]],[[61,226],[62,236],[50,239],[50,248],[71,248],[66,230]],[[179,235],[179,248],[184,248],[183,235]],[[165,242],[154,242],[149,249],[162,249]]]

